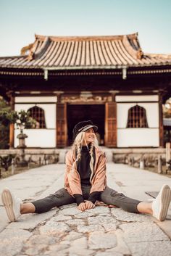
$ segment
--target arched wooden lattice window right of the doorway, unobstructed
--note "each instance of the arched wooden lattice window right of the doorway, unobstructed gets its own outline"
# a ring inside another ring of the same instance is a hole
[[[128,110],[127,128],[147,128],[146,110],[138,105]]]

